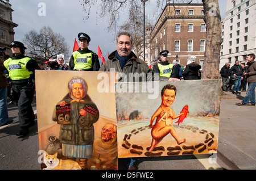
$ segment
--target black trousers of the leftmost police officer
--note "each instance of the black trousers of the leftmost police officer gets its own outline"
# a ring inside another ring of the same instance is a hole
[[[18,106],[19,125],[21,128],[29,128],[35,123],[35,115],[32,110],[35,87],[31,80],[12,81],[13,98]]]

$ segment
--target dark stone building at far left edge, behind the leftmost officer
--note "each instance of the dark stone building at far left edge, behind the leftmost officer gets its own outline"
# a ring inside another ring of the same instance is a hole
[[[7,47],[9,55],[12,53],[8,45],[14,41],[14,28],[18,26],[13,22],[12,12],[9,0],[0,0],[0,47]]]

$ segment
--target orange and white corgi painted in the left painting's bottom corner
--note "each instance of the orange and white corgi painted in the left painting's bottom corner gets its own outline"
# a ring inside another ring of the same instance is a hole
[[[57,158],[57,152],[53,155],[44,151],[44,164],[47,168],[43,170],[81,170],[79,163],[70,159]]]

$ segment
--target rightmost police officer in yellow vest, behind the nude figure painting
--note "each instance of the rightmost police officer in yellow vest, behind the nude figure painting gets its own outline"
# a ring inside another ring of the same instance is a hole
[[[159,73],[159,80],[164,80],[164,81],[171,81],[174,79],[175,75],[174,75],[174,65],[170,64],[167,61],[167,55],[168,55],[168,50],[163,50],[162,52],[160,52],[160,58],[162,61],[160,61],[158,64],[156,64],[157,66],[154,66],[153,71],[154,73]]]

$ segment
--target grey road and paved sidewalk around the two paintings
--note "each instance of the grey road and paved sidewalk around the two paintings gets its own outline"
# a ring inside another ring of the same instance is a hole
[[[245,97],[224,92],[221,95],[220,127],[217,154],[178,155],[172,157],[138,158],[139,170],[254,170],[256,169],[256,106],[236,106]],[[32,103],[36,113],[36,102]],[[19,129],[18,111],[9,105],[10,125],[0,127],[0,170],[40,170],[38,129],[35,124],[30,134],[16,138]],[[210,162],[213,160],[215,162]],[[122,159],[118,169],[125,170]]]

